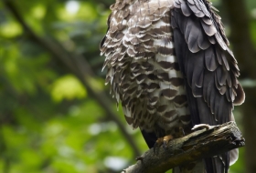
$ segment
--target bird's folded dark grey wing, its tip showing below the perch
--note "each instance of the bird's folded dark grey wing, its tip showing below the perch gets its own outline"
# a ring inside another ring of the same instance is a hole
[[[174,0],[171,25],[176,56],[187,85],[192,124],[219,125],[231,120],[244,101],[237,61],[229,50],[220,17],[203,0]],[[208,173],[229,169],[229,153],[205,159]]]

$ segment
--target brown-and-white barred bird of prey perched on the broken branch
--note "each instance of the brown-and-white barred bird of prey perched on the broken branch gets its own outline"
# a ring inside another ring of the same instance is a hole
[[[149,148],[191,127],[234,121],[244,102],[240,69],[208,0],[116,0],[100,45],[105,84]],[[160,141],[160,142],[159,142]],[[173,169],[226,173],[238,149]]]

